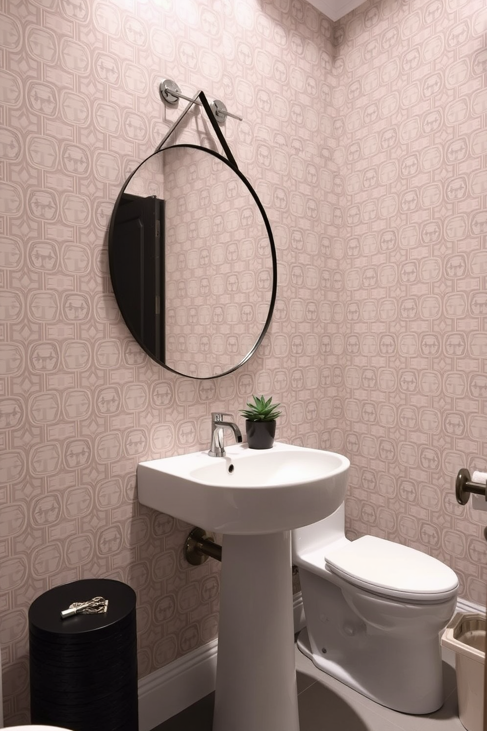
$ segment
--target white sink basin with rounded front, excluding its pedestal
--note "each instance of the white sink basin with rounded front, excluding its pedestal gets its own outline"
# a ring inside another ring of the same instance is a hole
[[[315,523],[345,496],[350,462],[334,452],[275,442],[139,463],[139,502],[223,534],[258,535]]]

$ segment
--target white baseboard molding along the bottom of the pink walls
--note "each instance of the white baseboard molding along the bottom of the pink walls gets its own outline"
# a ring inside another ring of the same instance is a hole
[[[485,614],[486,607],[459,599],[459,612]],[[306,626],[301,591],[294,595],[294,634]],[[170,662],[139,681],[139,731],[152,731],[215,690],[218,640]]]

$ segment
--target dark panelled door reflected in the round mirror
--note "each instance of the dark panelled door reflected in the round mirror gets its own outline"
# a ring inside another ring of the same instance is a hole
[[[123,292],[123,317],[137,341],[164,359],[164,200],[123,193],[113,235],[112,281]]]

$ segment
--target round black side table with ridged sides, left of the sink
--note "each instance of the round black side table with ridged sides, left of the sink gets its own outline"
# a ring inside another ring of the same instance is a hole
[[[108,599],[104,614],[61,619],[72,602]],[[28,610],[31,723],[72,731],[138,731],[136,596],[112,579],[46,591]]]

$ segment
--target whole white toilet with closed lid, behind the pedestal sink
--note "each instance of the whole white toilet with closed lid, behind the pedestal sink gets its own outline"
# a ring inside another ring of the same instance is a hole
[[[443,703],[440,632],[456,607],[455,572],[426,553],[345,538],[345,505],[292,531],[306,628],[299,649],[342,683],[403,713]]]

